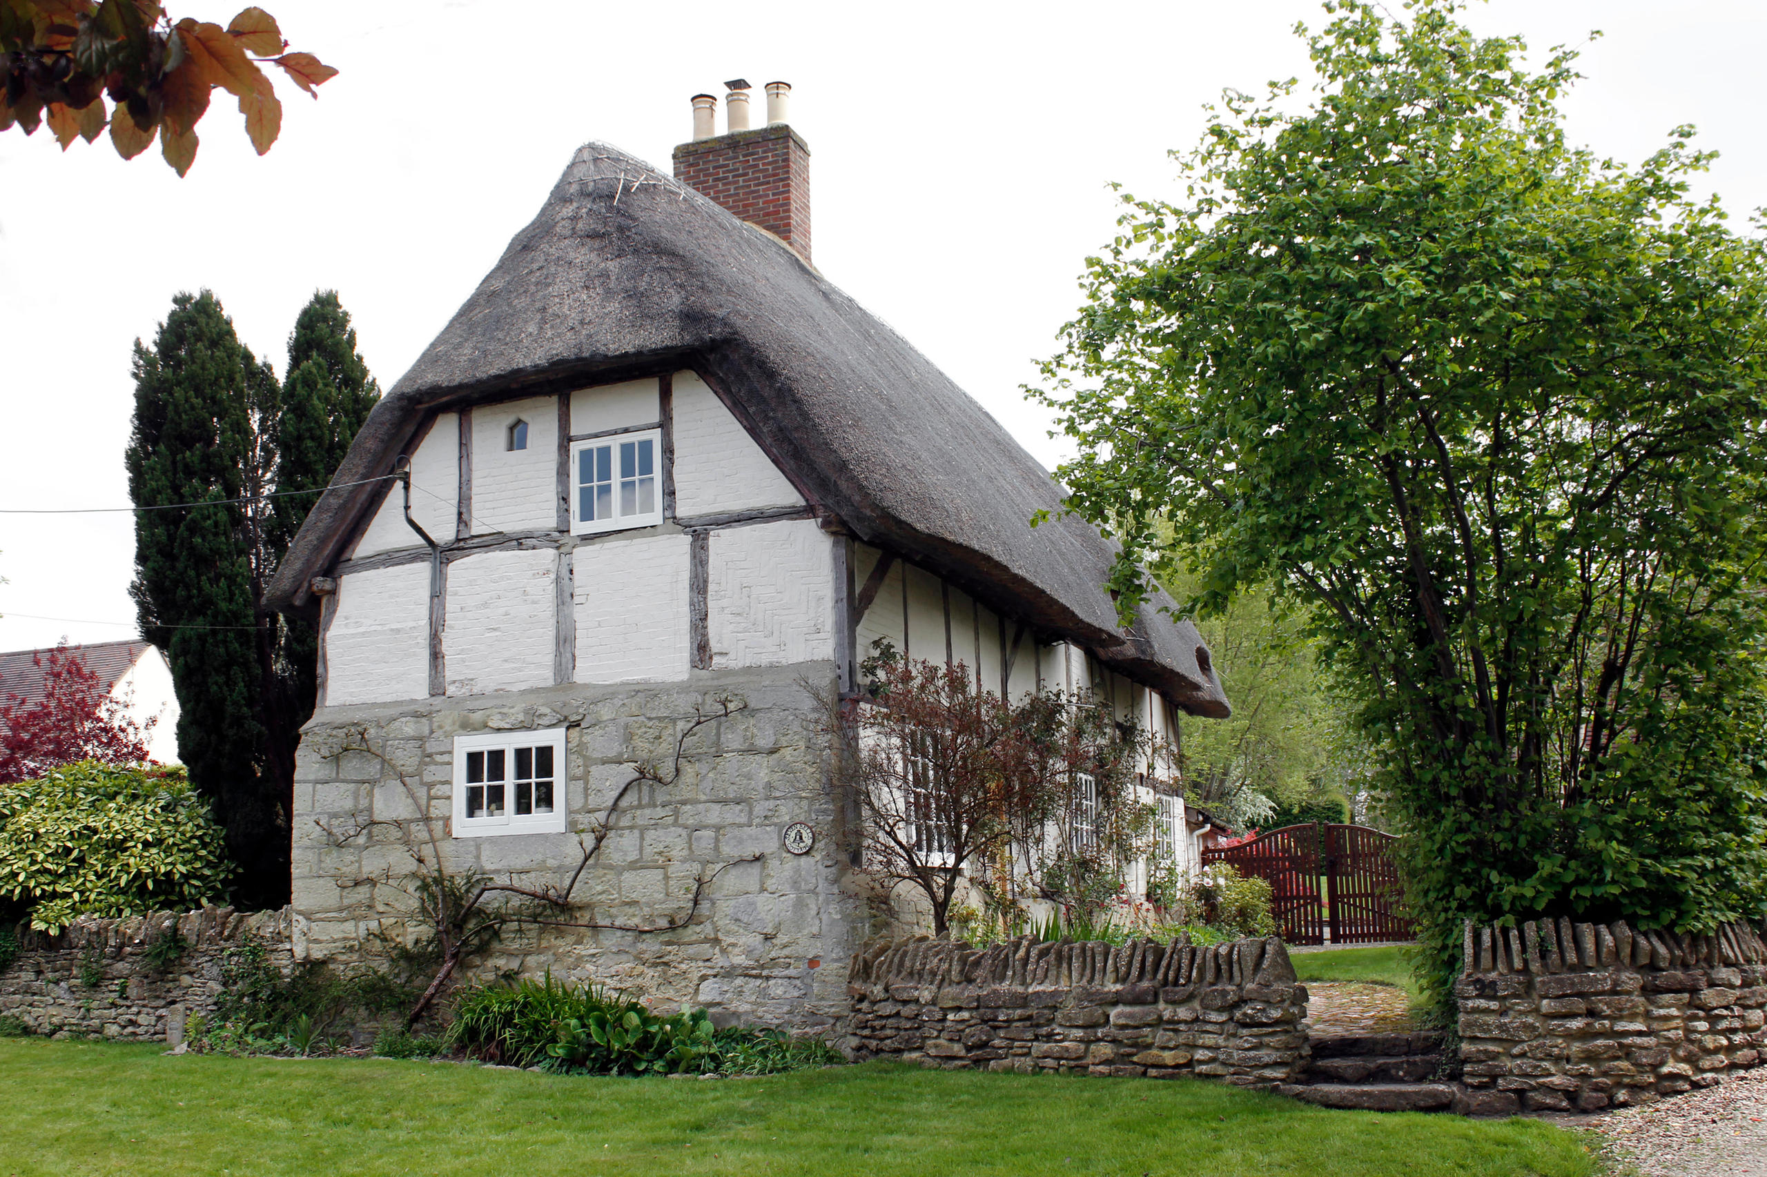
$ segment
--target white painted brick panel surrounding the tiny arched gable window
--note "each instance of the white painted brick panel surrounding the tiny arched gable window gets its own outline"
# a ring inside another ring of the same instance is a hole
[[[511,451],[509,426],[516,419],[528,422],[528,447]],[[474,534],[532,532],[557,525],[558,399],[534,396],[475,405],[472,410]]]

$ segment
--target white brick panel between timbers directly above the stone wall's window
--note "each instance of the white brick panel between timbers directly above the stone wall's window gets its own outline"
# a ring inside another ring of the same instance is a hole
[[[486,551],[449,564],[442,629],[449,695],[519,691],[553,680],[557,562],[557,551],[541,550]]]

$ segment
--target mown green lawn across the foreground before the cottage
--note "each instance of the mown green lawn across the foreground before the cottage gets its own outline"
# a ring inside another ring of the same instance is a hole
[[[765,1173],[1596,1177],[1536,1120],[1329,1112],[1196,1080],[866,1064],[758,1080],[555,1078],[0,1041],[0,1177]]]

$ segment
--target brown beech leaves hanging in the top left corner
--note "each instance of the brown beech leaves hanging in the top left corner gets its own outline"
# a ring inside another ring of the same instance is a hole
[[[223,28],[189,16],[173,23],[152,0],[0,0],[0,131],[48,125],[67,150],[108,125],[124,159],[157,136],[166,163],[184,175],[196,159],[196,124],[221,88],[239,99],[246,136],[262,156],[283,129],[283,103],[263,65],[277,65],[313,97],[337,72],[286,49],[276,18],[258,7]]]

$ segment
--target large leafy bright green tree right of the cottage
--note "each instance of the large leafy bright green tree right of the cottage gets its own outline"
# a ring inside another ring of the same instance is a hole
[[[1452,0],[1329,5],[1301,106],[1228,94],[1131,201],[1046,399],[1071,504],[1219,610],[1274,580],[1384,748],[1424,979],[1463,917],[1763,910],[1758,239],[1566,143]],[[1170,544],[1161,544],[1172,535]]]

